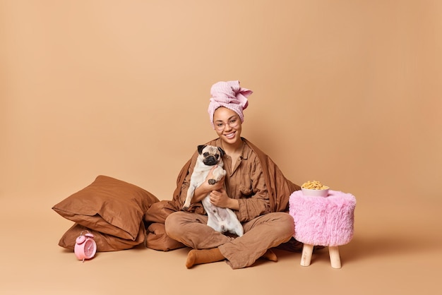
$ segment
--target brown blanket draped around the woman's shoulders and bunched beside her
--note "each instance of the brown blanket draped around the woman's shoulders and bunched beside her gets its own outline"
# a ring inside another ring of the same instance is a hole
[[[296,184],[292,183],[285,178],[282,171],[277,167],[268,155],[259,150],[255,145],[243,138],[245,143],[258,155],[260,159],[261,167],[263,168],[263,174],[265,178],[265,184],[268,188],[270,199],[270,210],[272,212],[280,212],[288,210],[289,196],[294,192],[301,189]],[[215,140],[207,143],[213,145]],[[188,172],[191,173],[193,166],[196,162],[197,154],[195,153],[191,159],[189,159],[184,167],[179,172],[177,178],[177,188],[175,188],[172,200],[162,200],[158,203],[154,203],[145,214],[145,222],[148,225],[148,236],[146,239],[146,246],[155,250],[169,251],[175,248],[182,248],[184,245],[173,239],[170,239],[165,233],[164,223],[170,213],[181,210],[183,200],[180,199],[181,186]],[[193,166],[192,166],[193,165]],[[189,209],[192,212],[199,214],[204,213],[204,208],[201,203],[191,205]]]

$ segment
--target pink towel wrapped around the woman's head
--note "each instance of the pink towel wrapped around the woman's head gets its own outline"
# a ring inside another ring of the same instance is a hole
[[[220,81],[212,85],[210,88],[210,104],[208,113],[210,116],[210,123],[213,126],[213,113],[218,107],[226,107],[236,112],[244,122],[244,109],[247,108],[249,102],[247,97],[251,95],[253,91],[239,86],[239,81]]]

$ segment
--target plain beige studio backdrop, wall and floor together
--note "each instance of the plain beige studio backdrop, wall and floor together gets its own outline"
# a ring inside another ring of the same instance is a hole
[[[1,293],[440,289],[441,13],[436,0],[0,0]],[[234,271],[186,270],[187,249],[81,265],[59,248],[71,222],[52,205],[98,174],[171,198],[196,145],[216,136],[206,110],[218,80],[254,91],[243,136],[289,179],[357,197],[342,269],[326,250],[310,267],[281,251]]]

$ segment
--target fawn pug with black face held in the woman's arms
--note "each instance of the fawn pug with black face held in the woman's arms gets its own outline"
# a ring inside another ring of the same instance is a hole
[[[187,191],[186,201],[184,202],[182,210],[189,209],[196,188],[201,186],[205,181],[210,169],[212,169],[214,165],[217,164],[217,167],[213,170],[214,179],[209,179],[209,184],[214,185],[226,175],[225,169],[222,168],[224,166],[224,163],[222,162],[223,155],[225,155],[225,151],[222,150],[222,148],[217,148],[213,145],[198,145],[198,157],[191,175],[189,190]],[[220,231],[221,233],[228,231],[231,234],[237,234],[237,236],[242,236],[244,234],[244,229],[241,222],[239,222],[237,215],[235,215],[229,208],[217,207],[210,203],[210,194],[205,196],[201,203],[203,203],[204,210],[207,212],[207,225],[209,227],[212,227],[215,231]]]

